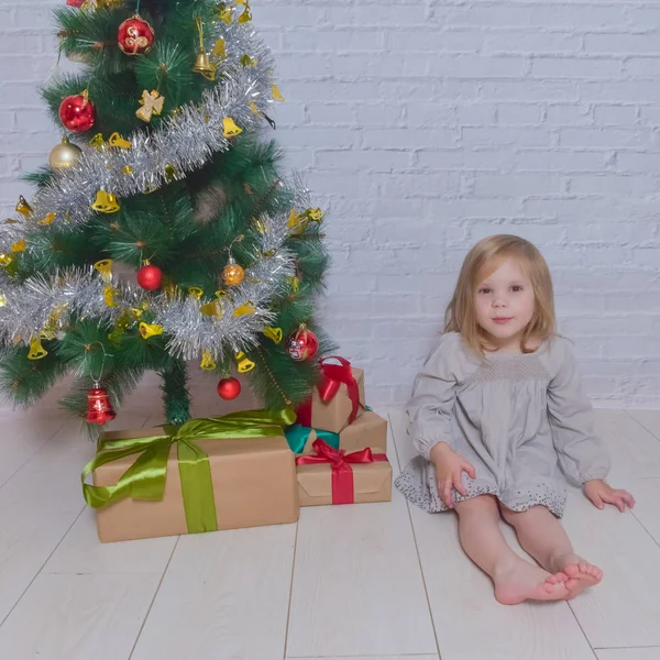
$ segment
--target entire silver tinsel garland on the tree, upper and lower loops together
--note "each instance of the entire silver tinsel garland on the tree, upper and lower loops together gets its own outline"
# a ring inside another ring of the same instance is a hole
[[[33,208],[30,223],[56,213],[54,227],[66,221],[75,231],[75,226],[86,222],[94,212],[91,204],[99,189],[114,194],[120,200],[153,190],[172,178],[184,178],[187,172],[207,163],[213,153],[229,148],[230,143],[222,135],[226,117],[231,117],[243,130],[256,130],[263,118],[249,102],[262,112],[272,103],[270,51],[254,32],[235,21],[230,25],[218,22],[208,40],[215,42],[219,37],[226,41],[227,59],[218,69],[218,85],[204,95],[200,103],[183,107],[148,135],[136,132],[124,136],[132,143],[129,150],[108,145],[87,150],[75,168],[57,173],[30,201]],[[244,67],[240,62],[244,54],[250,54],[256,65]],[[294,179],[286,193],[293,193],[296,208],[309,206],[308,193],[299,180]],[[146,305],[153,323],[162,326],[169,338],[168,350],[177,356],[199,359],[204,351],[209,351],[221,358],[228,349],[246,350],[273,321],[275,315],[270,304],[287,290],[288,278],[296,274],[296,255],[283,249],[288,216],[262,216],[261,221],[260,254],[254,255],[254,265],[245,270],[243,283],[221,299],[220,317],[200,312],[200,306],[212,299],[210,292],[205,292],[201,299],[180,293],[174,297],[166,293],[148,294],[134,285],[108,283],[91,267],[68,268],[50,277],[37,275],[18,285],[0,268],[0,342],[29,344],[40,332],[66,329],[70,320],[82,317],[114,324],[127,309]],[[24,227],[24,219],[0,224],[2,254],[11,253],[12,245],[23,237]],[[116,290],[118,307],[106,302],[109,284]],[[250,314],[234,314],[246,306]]]

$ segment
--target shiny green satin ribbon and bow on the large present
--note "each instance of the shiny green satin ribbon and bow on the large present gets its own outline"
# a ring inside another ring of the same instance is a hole
[[[167,480],[167,460],[172,444],[177,446],[182,494],[190,534],[216,531],[218,519],[208,454],[196,440],[231,438],[272,438],[284,436],[284,427],[296,421],[290,408],[278,413],[246,410],[223,417],[191,419],[182,427],[163,427],[165,435],[125,440],[108,440],[82,470],[82,494],[92,508],[100,508],[125,497],[158,502]],[[113,486],[92,486],[85,480],[97,468],[140,454]]]

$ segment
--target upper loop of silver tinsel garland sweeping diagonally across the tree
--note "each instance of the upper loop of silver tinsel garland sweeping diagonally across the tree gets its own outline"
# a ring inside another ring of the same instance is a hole
[[[155,190],[185,173],[201,167],[212,154],[230,146],[223,135],[223,119],[230,117],[243,130],[255,130],[263,117],[255,114],[272,105],[274,64],[267,46],[256,34],[237,22],[219,21],[210,38],[224,38],[227,59],[218,68],[218,85],[204,94],[200,103],[189,103],[163,121],[151,134],[135,132],[123,136],[131,148],[89,148],[76,167],[55,173],[53,179],[30,200],[33,220],[56,213],[54,224],[84,223],[94,210],[91,204],[100,189],[122,197]],[[244,67],[244,54],[256,62]],[[138,99],[135,99],[138,102]],[[138,106],[136,106],[138,107]],[[128,174],[123,174],[128,172]],[[19,217],[20,218],[20,217]],[[7,231],[7,228],[12,231]],[[0,252],[8,252],[15,242],[15,224],[0,226]]]

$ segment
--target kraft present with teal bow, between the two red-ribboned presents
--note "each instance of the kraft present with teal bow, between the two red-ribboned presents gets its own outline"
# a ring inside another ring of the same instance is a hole
[[[297,454],[314,453],[312,444],[317,438],[332,449],[343,449],[349,452],[367,447],[378,447],[387,451],[387,420],[369,408],[340,433],[310,429],[299,424],[288,427],[285,433],[292,451]]]

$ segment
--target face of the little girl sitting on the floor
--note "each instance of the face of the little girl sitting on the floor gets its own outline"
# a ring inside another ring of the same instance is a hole
[[[479,283],[474,295],[476,320],[488,339],[501,349],[519,342],[534,316],[535,295],[516,261],[507,258]]]

